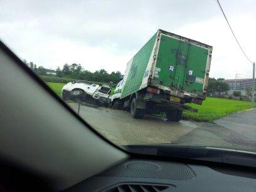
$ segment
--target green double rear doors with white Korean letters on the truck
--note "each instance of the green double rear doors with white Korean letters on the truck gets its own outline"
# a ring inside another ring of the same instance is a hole
[[[203,94],[208,50],[161,34],[154,83]]]

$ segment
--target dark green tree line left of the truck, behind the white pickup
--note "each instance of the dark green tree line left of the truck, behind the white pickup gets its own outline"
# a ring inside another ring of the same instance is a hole
[[[28,67],[36,72],[38,75],[52,75],[51,73],[56,73],[56,77],[113,83],[119,82],[120,78],[122,77],[122,74],[119,71],[108,73],[105,69],[101,69],[95,72],[90,72],[88,70],[85,70],[80,64],[77,63],[72,63],[70,65],[66,63],[65,65],[63,65],[62,68],[57,67],[56,70],[49,70],[47,68],[44,68],[43,66],[37,67],[35,63],[28,63],[26,60],[24,60],[24,63],[28,65]]]

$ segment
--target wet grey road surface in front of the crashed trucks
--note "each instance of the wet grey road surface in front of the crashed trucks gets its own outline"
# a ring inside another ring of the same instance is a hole
[[[69,105],[77,111],[78,104]],[[228,115],[216,120],[215,124],[185,120],[169,122],[154,115],[133,119],[129,112],[123,110],[85,105],[80,105],[80,116],[118,145],[169,143],[256,151],[256,110]]]

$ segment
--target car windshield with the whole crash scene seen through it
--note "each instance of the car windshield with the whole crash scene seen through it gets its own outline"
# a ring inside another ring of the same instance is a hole
[[[256,152],[255,6],[5,1],[0,34],[117,146]]]

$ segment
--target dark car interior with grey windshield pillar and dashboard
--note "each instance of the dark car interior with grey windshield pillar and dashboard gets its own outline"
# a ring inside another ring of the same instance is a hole
[[[256,154],[115,146],[2,42],[0,82],[1,192],[256,191]]]

